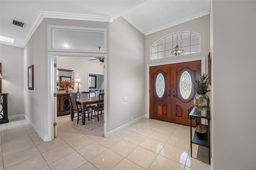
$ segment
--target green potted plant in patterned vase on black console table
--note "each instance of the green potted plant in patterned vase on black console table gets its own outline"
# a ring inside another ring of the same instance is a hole
[[[201,80],[196,80],[194,82],[194,87],[196,90],[196,95],[194,97],[194,105],[197,110],[207,110],[210,105],[210,99],[206,93],[209,85],[209,77],[207,75],[200,75]]]

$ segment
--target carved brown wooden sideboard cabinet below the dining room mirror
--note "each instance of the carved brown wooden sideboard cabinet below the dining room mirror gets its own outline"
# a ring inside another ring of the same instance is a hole
[[[57,116],[70,114],[69,93],[57,93]]]

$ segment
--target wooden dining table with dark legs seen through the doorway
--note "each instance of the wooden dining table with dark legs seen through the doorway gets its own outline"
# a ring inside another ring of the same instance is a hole
[[[85,125],[85,109],[86,105],[98,103],[99,97],[84,97],[84,98],[77,98],[77,103],[81,104],[82,109],[82,123]],[[88,115],[89,116],[89,115]]]

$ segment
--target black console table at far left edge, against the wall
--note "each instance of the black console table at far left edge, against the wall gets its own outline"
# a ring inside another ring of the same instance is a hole
[[[0,119],[0,123],[8,123],[8,104],[7,104],[7,95],[8,93],[0,93],[0,114],[2,115],[2,119]]]

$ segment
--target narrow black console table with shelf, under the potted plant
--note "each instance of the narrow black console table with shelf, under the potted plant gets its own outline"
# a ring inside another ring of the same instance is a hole
[[[206,134],[200,134],[195,131],[194,137],[192,139],[192,117],[196,118],[196,126],[198,125],[197,123],[197,118],[203,118],[207,119],[208,125],[206,126],[207,132]],[[190,118],[190,148],[191,148],[191,157],[192,157],[192,143],[198,144],[201,146],[205,146],[208,148],[208,156],[209,156],[209,164],[211,164],[211,157],[210,157],[210,108],[207,109],[206,114],[202,115],[200,111],[197,111],[196,107],[192,109],[192,111],[189,114]]]

